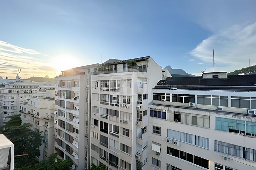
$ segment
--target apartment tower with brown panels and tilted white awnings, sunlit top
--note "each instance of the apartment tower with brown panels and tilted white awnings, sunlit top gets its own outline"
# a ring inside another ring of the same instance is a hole
[[[97,66],[72,68],[55,78],[54,147],[73,161],[72,169],[88,169],[89,84]]]

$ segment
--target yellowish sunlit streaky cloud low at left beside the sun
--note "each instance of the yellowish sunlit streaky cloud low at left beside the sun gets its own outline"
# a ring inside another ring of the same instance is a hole
[[[22,78],[45,75],[55,77],[56,68],[49,66],[50,60],[50,56],[33,49],[0,41],[1,76],[15,78],[18,69],[21,69]]]

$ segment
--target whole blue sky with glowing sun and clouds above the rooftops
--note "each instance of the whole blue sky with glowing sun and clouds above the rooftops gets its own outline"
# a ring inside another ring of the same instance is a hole
[[[0,76],[59,75],[108,59],[151,56],[162,68],[256,65],[255,0],[1,0]],[[249,62],[250,61],[250,62]]]

